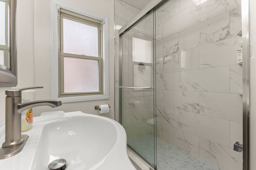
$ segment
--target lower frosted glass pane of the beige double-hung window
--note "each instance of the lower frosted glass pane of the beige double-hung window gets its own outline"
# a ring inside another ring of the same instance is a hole
[[[64,57],[64,92],[99,91],[98,60]]]

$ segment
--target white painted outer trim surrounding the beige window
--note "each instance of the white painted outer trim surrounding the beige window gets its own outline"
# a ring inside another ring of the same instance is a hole
[[[91,96],[73,96],[59,97],[59,82],[58,82],[58,11],[60,8],[74,12],[83,16],[94,18],[102,21],[102,76],[103,76],[103,94]],[[100,14],[66,4],[60,0],[52,0],[50,4],[50,88],[51,99],[67,102],[81,102],[89,100],[104,100],[109,99],[109,40],[108,40],[108,17]]]

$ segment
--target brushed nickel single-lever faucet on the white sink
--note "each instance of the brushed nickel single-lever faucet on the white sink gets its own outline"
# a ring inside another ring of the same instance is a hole
[[[35,86],[21,89],[9,89],[5,91],[5,142],[0,148],[0,159],[9,158],[18,154],[28,140],[28,135],[21,135],[21,112],[31,107],[37,106],[61,106],[59,100],[38,100],[34,102],[22,103],[22,90],[43,88]]]

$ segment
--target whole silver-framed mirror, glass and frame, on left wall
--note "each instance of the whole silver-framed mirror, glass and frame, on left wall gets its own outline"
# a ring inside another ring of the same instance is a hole
[[[0,0],[0,87],[17,83],[16,0]]]

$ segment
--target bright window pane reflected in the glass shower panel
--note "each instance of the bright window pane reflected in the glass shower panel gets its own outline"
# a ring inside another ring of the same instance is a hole
[[[132,37],[132,61],[152,63],[152,42]]]

